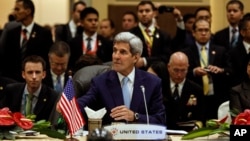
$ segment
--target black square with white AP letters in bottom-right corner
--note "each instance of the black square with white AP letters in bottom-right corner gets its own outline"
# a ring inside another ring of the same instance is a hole
[[[230,141],[249,141],[249,125],[230,125]]]

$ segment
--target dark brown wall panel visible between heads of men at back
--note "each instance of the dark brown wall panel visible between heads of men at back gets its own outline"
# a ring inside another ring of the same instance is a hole
[[[198,6],[178,6],[178,9],[181,10],[182,14],[193,13]],[[209,6],[207,6],[209,8]],[[116,26],[116,32],[121,31],[122,24],[122,14],[125,11],[134,11],[136,13],[136,6],[131,5],[109,5],[108,6],[108,17],[111,18]],[[171,13],[163,13],[158,16],[157,22],[160,28],[169,33],[171,37],[175,35],[176,31],[176,22]]]

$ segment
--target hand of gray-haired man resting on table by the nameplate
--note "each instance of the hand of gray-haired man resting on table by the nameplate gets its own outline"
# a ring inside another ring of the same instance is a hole
[[[126,121],[134,121],[135,113],[128,109],[125,105],[117,106],[111,110],[110,116],[114,118],[114,120],[126,120]]]

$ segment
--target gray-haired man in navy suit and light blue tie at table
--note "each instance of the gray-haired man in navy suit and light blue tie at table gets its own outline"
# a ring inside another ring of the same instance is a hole
[[[89,91],[78,98],[82,113],[85,113],[85,106],[105,107],[107,113],[103,117],[103,125],[112,122],[147,123],[145,94],[148,122],[165,124],[160,79],[135,68],[142,48],[141,40],[130,32],[116,35],[112,70],[93,78]],[[126,79],[127,82],[124,81]]]

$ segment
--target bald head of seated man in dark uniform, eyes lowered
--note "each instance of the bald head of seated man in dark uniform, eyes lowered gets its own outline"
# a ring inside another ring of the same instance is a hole
[[[181,83],[187,75],[188,57],[182,52],[175,52],[170,56],[168,72],[170,79],[174,83]]]

